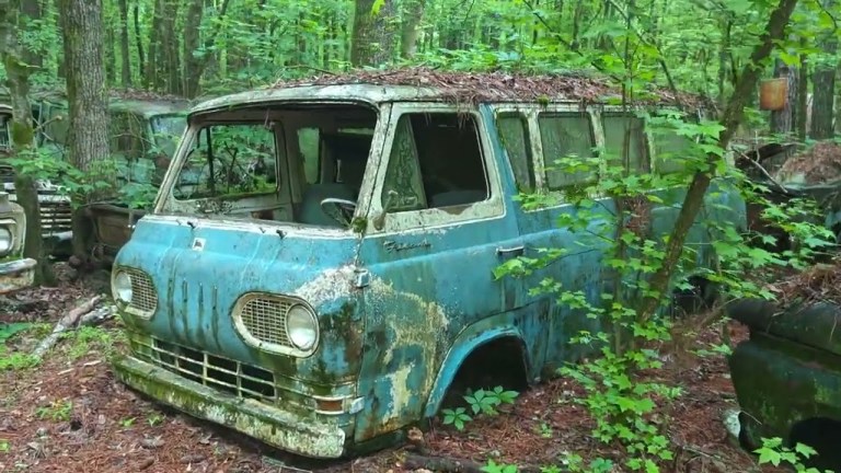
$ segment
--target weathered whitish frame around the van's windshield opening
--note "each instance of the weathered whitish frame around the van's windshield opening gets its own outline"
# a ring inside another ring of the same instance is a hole
[[[180,217],[180,218],[189,218],[191,221],[204,221],[208,222],[210,224],[218,224],[221,222],[235,222],[238,226],[242,226],[243,223],[255,223],[260,227],[265,226],[272,226],[272,227],[283,227],[283,228],[293,228],[298,230],[302,230],[304,232],[311,231],[314,233],[341,233],[343,235],[347,234],[352,231],[353,226],[347,227],[320,227],[320,226],[311,226],[306,223],[300,223],[296,221],[279,221],[279,220],[260,220],[255,218],[249,218],[243,216],[235,216],[235,215],[226,215],[226,214],[204,214],[198,210],[196,211],[184,211],[182,209],[177,209],[177,207],[184,205],[184,200],[178,200],[175,198],[174,195],[174,187],[178,182],[178,176],[186,164],[187,157],[192,148],[195,146],[196,140],[199,138],[199,134],[201,129],[205,126],[219,123],[218,113],[220,112],[237,112],[237,111],[244,111],[244,109],[254,109],[254,108],[268,108],[268,107],[277,107],[283,108],[284,106],[314,106],[314,107],[324,107],[329,108],[331,106],[357,106],[357,107],[364,107],[368,108],[371,112],[376,114],[376,124],[373,128],[373,138],[371,141],[371,148],[368,157],[368,163],[366,165],[365,176],[362,178],[362,184],[359,189],[359,197],[357,200],[357,207],[356,211],[354,212],[353,219],[356,220],[357,218],[364,218],[368,214],[368,207],[370,205],[370,197],[373,192],[373,183],[376,182],[377,174],[379,173],[380,168],[380,160],[381,160],[381,151],[383,146],[383,137],[385,132],[388,131],[389,123],[388,118],[390,116],[391,112],[391,104],[390,103],[371,103],[369,101],[361,101],[361,100],[354,100],[354,99],[346,99],[346,100],[274,100],[274,101],[261,101],[257,103],[250,103],[250,102],[242,102],[240,104],[237,104],[234,106],[227,105],[224,107],[220,108],[212,108],[212,109],[205,109],[200,112],[191,113],[186,117],[187,126],[184,130],[184,135],[178,142],[178,146],[175,150],[175,153],[173,154],[172,162],[170,166],[166,170],[166,174],[163,177],[163,182],[161,183],[161,186],[158,191],[158,195],[155,196],[154,205],[151,210],[151,215],[153,216],[161,216],[161,217]],[[284,164],[288,168],[288,163]],[[193,200],[194,203],[198,201],[211,201],[215,199],[198,199]],[[216,200],[223,200],[223,199],[216,199]],[[174,205],[173,205],[174,204]],[[175,209],[174,209],[175,208]]]

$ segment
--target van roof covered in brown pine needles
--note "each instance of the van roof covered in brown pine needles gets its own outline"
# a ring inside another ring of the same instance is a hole
[[[703,107],[706,99],[668,89],[637,91],[636,104]],[[621,97],[607,78],[587,72],[526,74],[509,72],[441,72],[428,68],[324,73],[309,79],[278,81],[267,88],[219,96],[191,113],[231,105],[275,101],[438,101],[465,105],[502,102],[608,103]]]

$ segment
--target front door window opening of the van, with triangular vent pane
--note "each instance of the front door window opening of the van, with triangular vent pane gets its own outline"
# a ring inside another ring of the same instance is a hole
[[[384,209],[461,206],[488,196],[473,115],[411,113],[400,117],[381,196]]]

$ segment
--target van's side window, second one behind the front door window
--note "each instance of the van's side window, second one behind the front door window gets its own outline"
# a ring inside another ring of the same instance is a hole
[[[580,160],[596,158],[596,135],[587,113],[542,113],[538,117],[540,141],[543,145],[543,162],[546,183],[551,191],[584,184],[596,178],[597,170],[567,172],[556,168],[556,160],[575,157]]]

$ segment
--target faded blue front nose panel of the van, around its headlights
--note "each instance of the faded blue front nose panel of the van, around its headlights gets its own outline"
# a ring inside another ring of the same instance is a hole
[[[126,315],[129,327],[196,350],[289,377],[332,384],[358,372],[361,289],[359,236],[270,223],[192,217],[140,219],[120,249],[114,272],[145,273],[157,297],[149,320]],[[320,342],[307,358],[266,353],[234,325],[237,300],[247,292],[295,296],[316,312]]]

